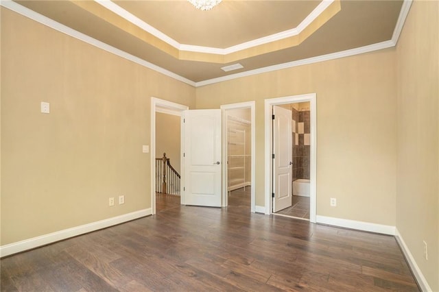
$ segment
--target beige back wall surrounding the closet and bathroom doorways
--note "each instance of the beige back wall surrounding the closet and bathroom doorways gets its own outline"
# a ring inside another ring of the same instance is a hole
[[[264,99],[316,93],[317,214],[394,226],[394,68],[386,49],[197,88],[196,104],[256,101],[256,204],[264,206]]]

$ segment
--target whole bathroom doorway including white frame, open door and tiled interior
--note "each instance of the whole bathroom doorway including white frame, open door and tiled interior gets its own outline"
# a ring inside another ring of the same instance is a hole
[[[291,117],[286,122],[291,123],[288,137],[285,134],[276,136],[273,123],[275,120],[275,117],[273,117],[275,106],[287,110]],[[316,95],[265,99],[265,137],[267,137],[265,139],[265,171],[269,173],[265,177],[265,214],[316,222]],[[289,149],[291,152],[288,156],[283,155],[284,158],[282,159],[288,159],[289,161],[285,160],[279,163],[276,161],[277,145],[283,143],[282,139],[287,138],[292,142],[291,149]],[[273,156],[273,154],[275,155]],[[274,210],[275,200],[278,197],[286,197],[281,192],[276,194],[278,190],[276,184],[283,184],[284,193],[287,184],[285,179],[275,178],[275,167],[279,165],[290,165],[291,167],[287,181],[289,185],[287,195],[291,198],[291,205],[286,208],[282,206],[281,210],[276,207],[276,210]]]

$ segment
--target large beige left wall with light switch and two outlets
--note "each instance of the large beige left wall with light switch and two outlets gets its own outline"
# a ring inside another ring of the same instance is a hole
[[[195,88],[5,8],[1,78],[1,245],[151,207],[150,99]]]

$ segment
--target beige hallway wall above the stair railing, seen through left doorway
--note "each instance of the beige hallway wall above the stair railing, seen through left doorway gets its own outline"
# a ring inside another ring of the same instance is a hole
[[[156,158],[163,152],[172,167],[180,172],[180,117],[156,112]]]

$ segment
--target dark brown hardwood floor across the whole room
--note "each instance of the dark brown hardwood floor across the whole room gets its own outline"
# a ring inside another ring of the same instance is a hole
[[[393,236],[157,199],[157,213],[1,259],[1,291],[419,291]]]

